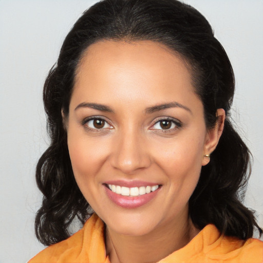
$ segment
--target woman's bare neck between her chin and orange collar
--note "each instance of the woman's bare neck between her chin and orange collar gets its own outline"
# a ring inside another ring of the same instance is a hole
[[[106,253],[111,263],[157,262],[184,247],[198,233],[191,219],[165,223],[143,236],[126,236],[106,228]]]

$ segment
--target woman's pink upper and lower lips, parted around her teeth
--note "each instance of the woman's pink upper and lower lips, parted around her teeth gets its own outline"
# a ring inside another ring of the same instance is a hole
[[[143,181],[107,181],[105,184],[114,184],[120,185],[125,187],[140,187],[140,186],[154,186],[157,185],[156,183],[149,183]],[[114,202],[115,204],[128,209],[138,208],[149,201],[151,201],[159,192],[161,187],[159,187],[156,191],[151,192],[149,194],[139,195],[139,196],[122,196],[120,194],[116,194],[108,189],[108,187],[104,184],[105,191],[109,199]]]

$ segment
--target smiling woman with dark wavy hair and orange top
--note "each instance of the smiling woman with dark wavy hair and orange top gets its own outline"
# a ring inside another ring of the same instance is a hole
[[[233,94],[227,54],[194,8],[88,9],[44,86],[35,229],[53,245],[29,262],[262,262],[240,201],[250,152],[231,126]],[[69,237],[74,218],[85,224]]]

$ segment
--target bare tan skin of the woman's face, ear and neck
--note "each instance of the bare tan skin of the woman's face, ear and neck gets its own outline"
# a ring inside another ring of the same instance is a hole
[[[180,106],[146,110],[171,102]],[[198,233],[188,201],[201,166],[210,160],[204,155],[214,151],[221,136],[224,110],[217,115],[218,124],[208,130],[189,70],[161,44],[101,41],[86,50],[64,121],[76,181],[106,223],[111,263],[156,262]],[[96,129],[88,117],[105,125]],[[163,129],[160,120],[167,118],[176,124]],[[148,203],[127,209],[112,202],[103,185],[120,179],[152,182],[161,189]]]

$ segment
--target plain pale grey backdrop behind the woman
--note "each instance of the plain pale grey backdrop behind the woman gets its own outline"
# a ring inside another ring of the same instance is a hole
[[[67,32],[95,2],[0,0],[0,263],[26,262],[44,248],[34,236],[34,171],[48,145],[42,87]],[[246,204],[263,227],[263,1],[185,2],[209,20],[232,62],[232,115],[254,155]]]

